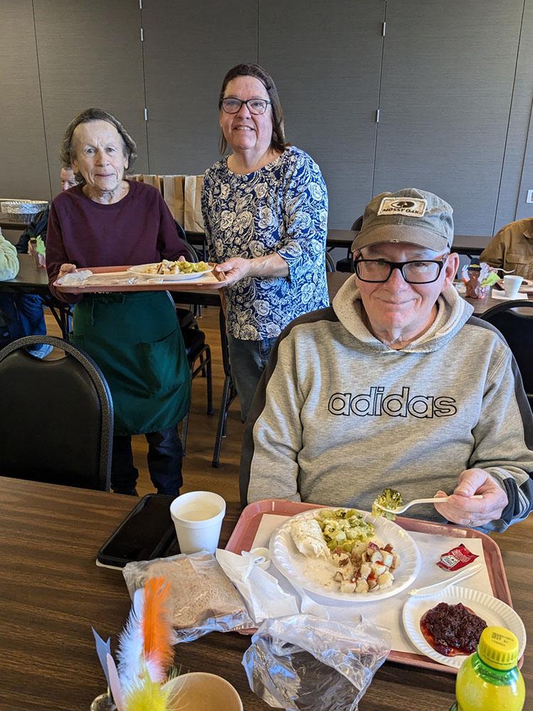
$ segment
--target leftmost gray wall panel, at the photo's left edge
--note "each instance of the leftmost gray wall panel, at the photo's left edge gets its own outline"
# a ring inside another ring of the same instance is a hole
[[[50,200],[31,0],[4,0],[0,27],[0,196]]]

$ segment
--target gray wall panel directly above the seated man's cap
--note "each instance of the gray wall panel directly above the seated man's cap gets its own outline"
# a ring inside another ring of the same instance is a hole
[[[458,234],[492,234],[522,6],[387,3],[375,193],[426,188]]]

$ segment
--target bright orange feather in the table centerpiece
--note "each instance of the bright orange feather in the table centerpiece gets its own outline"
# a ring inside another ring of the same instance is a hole
[[[151,578],[144,584],[142,636],[144,659],[153,681],[164,681],[174,653],[171,645],[172,624],[168,604],[171,587],[164,578]]]

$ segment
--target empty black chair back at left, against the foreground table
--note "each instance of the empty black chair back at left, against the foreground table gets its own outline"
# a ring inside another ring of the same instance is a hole
[[[41,343],[63,358],[26,350]],[[96,363],[60,338],[26,336],[0,351],[0,475],[109,491],[113,405]]]

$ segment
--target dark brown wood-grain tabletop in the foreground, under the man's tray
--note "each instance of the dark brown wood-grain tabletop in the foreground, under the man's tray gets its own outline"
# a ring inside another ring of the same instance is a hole
[[[79,711],[104,690],[91,626],[112,637],[124,626],[130,601],[122,573],[97,567],[95,557],[136,501],[128,496],[0,479],[0,708],[9,711]],[[221,544],[239,514],[229,505]],[[524,522],[495,536],[503,556],[517,612],[533,634],[532,527]],[[525,545],[524,545],[525,544]],[[182,670],[209,671],[237,688],[247,711],[269,707],[249,690],[241,665],[249,637],[209,634],[176,646]],[[529,658],[522,673],[533,703]],[[448,673],[385,663],[362,702],[361,711],[447,710],[455,678]]]

